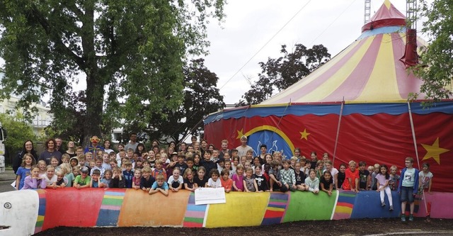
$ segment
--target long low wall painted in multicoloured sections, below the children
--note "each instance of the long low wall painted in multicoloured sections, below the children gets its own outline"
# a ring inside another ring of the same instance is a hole
[[[232,227],[271,225],[298,220],[396,218],[398,193],[381,207],[376,191],[228,193],[226,203],[195,205],[194,193],[180,191],[149,196],[132,189],[25,190],[0,193],[1,235],[31,235],[58,226],[76,227]],[[453,218],[453,193],[426,194],[432,218]],[[418,198],[415,215],[424,217],[425,201]]]

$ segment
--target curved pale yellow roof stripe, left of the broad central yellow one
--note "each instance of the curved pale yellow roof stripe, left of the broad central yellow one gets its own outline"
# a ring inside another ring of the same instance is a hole
[[[360,47],[360,49],[357,50],[357,52],[355,52],[355,54],[352,55],[352,57],[350,57],[350,60],[348,60],[348,62],[346,62],[343,65],[343,67],[339,68],[338,71],[335,74],[333,74],[333,76],[330,79],[316,87],[316,89],[311,91],[309,94],[303,96],[299,101],[294,102],[321,101],[322,99],[325,99],[327,96],[331,95],[333,91],[338,89],[338,86],[343,84],[343,82],[345,82],[345,80],[348,79],[350,74],[357,67],[357,64],[359,64],[362,58],[364,57],[365,53],[369,48],[369,45],[372,44],[375,37],[376,36],[371,36],[364,39],[366,41],[362,45],[362,47]]]

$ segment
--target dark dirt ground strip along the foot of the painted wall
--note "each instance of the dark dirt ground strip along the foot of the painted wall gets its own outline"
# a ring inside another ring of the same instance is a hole
[[[425,218],[415,218],[413,222],[401,223],[399,218],[393,219],[360,219],[360,220],[324,220],[299,221],[280,225],[260,227],[228,227],[228,228],[183,228],[183,227],[57,227],[45,230],[37,235],[372,235],[389,232],[420,232],[448,230],[444,235],[453,234],[453,220],[432,219],[430,223]],[[432,235],[424,233],[421,235]]]

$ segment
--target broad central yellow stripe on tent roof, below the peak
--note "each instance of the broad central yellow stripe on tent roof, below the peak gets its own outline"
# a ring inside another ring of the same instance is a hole
[[[398,83],[396,81],[395,60],[393,43],[390,34],[382,36],[381,47],[377,52],[377,59],[374,63],[373,71],[369,75],[362,94],[356,99],[361,100],[402,100],[399,94]]]

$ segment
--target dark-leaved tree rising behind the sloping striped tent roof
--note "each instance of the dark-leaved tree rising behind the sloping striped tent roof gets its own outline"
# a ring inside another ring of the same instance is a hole
[[[242,96],[236,106],[257,104],[273,95],[274,91],[282,91],[300,79],[309,75],[316,68],[326,63],[331,55],[323,45],[306,48],[302,44],[294,45],[292,52],[282,45],[278,58],[268,58],[268,62],[260,62],[261,72],[258,81]]]

